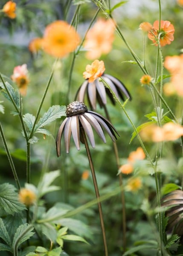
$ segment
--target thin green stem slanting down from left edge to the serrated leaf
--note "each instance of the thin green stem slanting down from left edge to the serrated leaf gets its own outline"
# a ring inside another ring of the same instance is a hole
[[[1,135],[1,137],[2,137],[3,145],[4,145],[4,147],[5,147],[6,154],[7,154],[7,157],[8,157],[9,163],[10,163],[10,166],[11,166],[11,168],[12,168],[12,172],[13,172],[13,176],[14,176],[14,178],[15,178],[15,182],[17,183],[17,187],[18,187],[18,189],[20,190],[20,182],[19,182],[19,180],[18,180],[17,172],[16,172],[16,170],[15,170],[15,166],[14,166],[14,163],[13,163],[13,160],[12,160],[12,156],[11,156],[11,154],[10,154],[10,152],[9,152],[9,148],[8,148],[8,145],[7,145],[7,142],[6,142],[6,138],[5,138],[4,133],[3,133],[3,127],[2,127],[2,125],[1,125],[1,123],[0,123],[0,135]]]

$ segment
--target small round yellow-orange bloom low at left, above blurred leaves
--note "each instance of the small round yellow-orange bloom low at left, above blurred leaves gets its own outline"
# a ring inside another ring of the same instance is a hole
[[[32,190],[23,188],[20,189],[18,198],[21,203],[25,204],[26,206],[30,206],[34,204],[36,195]]]

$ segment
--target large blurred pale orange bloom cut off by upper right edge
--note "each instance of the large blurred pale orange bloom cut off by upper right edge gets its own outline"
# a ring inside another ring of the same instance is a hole
[[[170,72],[170,82],[179,96],[183,96],[183,54],[166,56],[164,67]]]

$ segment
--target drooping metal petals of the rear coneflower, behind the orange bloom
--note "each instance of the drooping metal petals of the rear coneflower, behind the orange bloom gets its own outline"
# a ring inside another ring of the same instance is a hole
[[[125,85],[121,81],[119,81],[119,79],[105,73],[102,74],[101,78],[106,81],[106,83],[110,86],[111,90],[113,90],[113,92],[119,100],[122,99],[123,101],[125,101],[124,96],[126,96],[128,99],[131,99],[129,91],[127,90]],[[100,78],[97,78],[93,82],[89,82],[88,79],[86,79],[81,84],[76,93],[76,99],[83,102],[85,92],[87,91],[86,93],[88,102],[92,110],[96,109],[96,102],[99,102],[100,107],[103,107],[107,104],[106,94],[109,96],[112,104],[116,104],[116,101],[113,98],[113,95],[111,94],[110,90],[107,87],[105,87],[105,85],[102,83],[102,81],[99,81],[99,79]]]

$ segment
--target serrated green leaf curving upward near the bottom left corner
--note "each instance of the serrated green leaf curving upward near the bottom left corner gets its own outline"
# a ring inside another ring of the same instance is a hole
[[[17,251],[17,248],[19,247],[20,244],[22,244],[24,241],[28,240],[31,236],[34,235],[34,232],[32,232],[33,229],[34,227],[27,223],[20,225],[17,228],[17,231],[13,239],[13,243],[12,243],[14,253]]]

